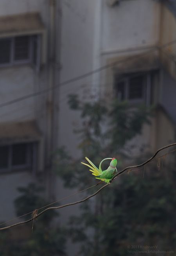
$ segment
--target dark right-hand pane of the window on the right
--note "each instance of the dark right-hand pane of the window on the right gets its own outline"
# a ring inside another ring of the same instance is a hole
[[[129,78],[129,99],[143,98],[144,76]]]

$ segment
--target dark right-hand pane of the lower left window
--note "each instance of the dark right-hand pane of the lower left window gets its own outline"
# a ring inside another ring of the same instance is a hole
[[[12,166],[27,164],[27,144],[15,144],[12,146]]]

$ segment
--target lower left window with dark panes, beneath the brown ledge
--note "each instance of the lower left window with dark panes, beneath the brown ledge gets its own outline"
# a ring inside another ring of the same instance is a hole
[[[0,146],[0,171],[33,169],[36,143],[19,143]]]

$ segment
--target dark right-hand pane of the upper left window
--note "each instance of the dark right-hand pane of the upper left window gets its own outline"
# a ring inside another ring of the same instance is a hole
[[[14,59],[15,61],[29,59],[29,36],[15,37]]]

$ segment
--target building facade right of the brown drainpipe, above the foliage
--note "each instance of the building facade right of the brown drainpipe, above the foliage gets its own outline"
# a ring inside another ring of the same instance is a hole
[[[176,122],[174,1],[80,3],[67,0],[61,3],[61,81],[95,72],[61,87],[59,97],[62,99],[63,94],[75,88],[76,92],[79,89],[82,99],[86,99],[86,94],[93,94],[95,98],[106,95],[108,99],[115,92],[119,100],[128,100],[132,107],[140,103],[154,106],[156,117],[151,119],[151,125],[144,125],[138,144],[155,151],[173,142]],[[68,148],[74,153],[77,138],[72,133],[72,124],[76,120],[79,125],[79,119],[74,115],[67,118],[70,109],[66,101],[59,104],[59,120],[62,119],[59,143],[68,147],[65,141],[68,136],[71,142]]]

